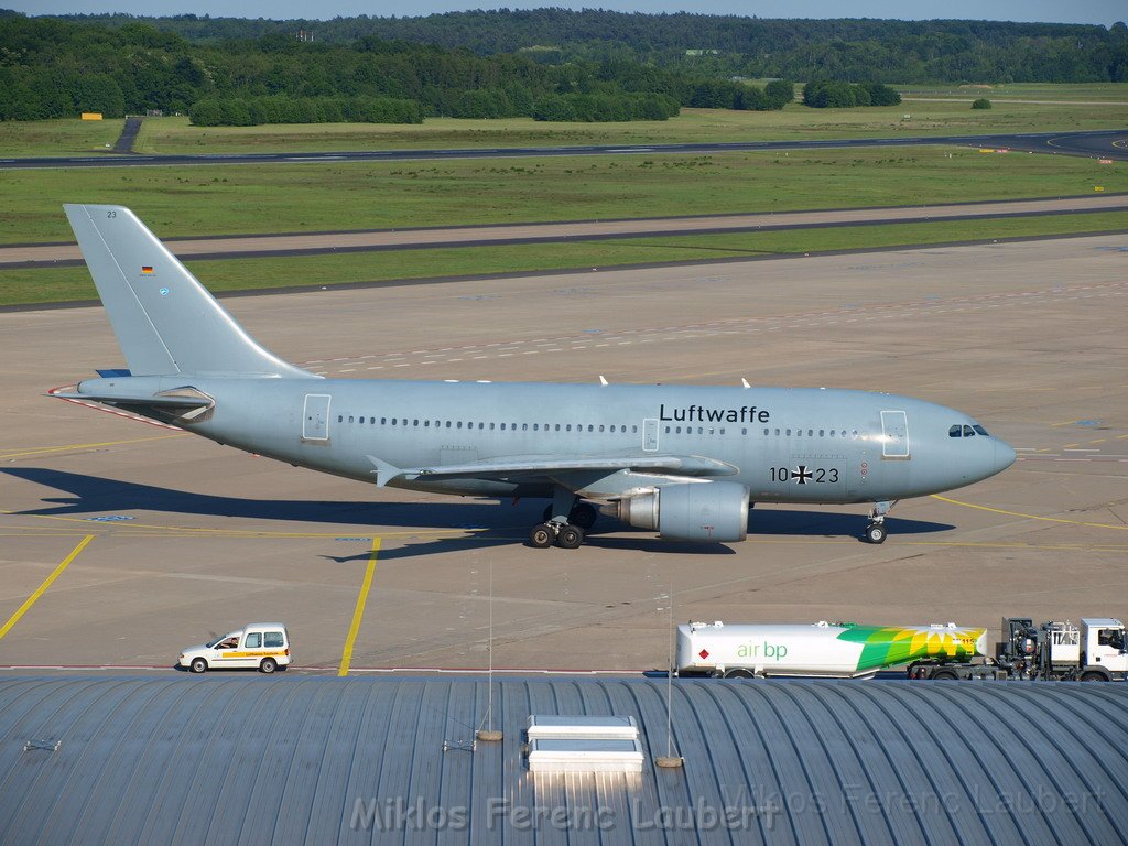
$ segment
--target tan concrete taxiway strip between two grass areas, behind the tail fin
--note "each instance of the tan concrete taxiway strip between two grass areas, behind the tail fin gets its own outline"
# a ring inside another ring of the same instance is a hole
[[[428,229],[287,235],[170,238],[166,244],[182,258],[247,258],[324,253],[362,253],[387,249],[424,249],[481,245],[608,240],[668,235],[766,232],[777,229],[814,229],[841,226],[880,226],[935,220],[978,220],[1093,211],[1128,210],[1128,195],[1094,194],[1059,200],[1015,200],[989,203],[952,203],[901,208],[838,209],[764,214],[717,214],[690,218],[585,220],[564,223],[515,223]],[[77,244],[0,247],[0,268],[65,267],[82,264]]]

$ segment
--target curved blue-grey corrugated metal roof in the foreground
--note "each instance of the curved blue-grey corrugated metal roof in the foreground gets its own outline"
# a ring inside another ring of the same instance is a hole
[[[5,844],[1112,844],[1128,686],[0,680]],[[530,714],[634,716],[638,775],[531,774]],[[58,751],[28,740],[62,741]],[[443,751],[444,741],[449,741]]]

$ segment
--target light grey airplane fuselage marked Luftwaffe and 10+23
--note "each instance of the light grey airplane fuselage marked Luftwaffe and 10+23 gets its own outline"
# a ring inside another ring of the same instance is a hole
[[[86,380],[82,391],[134,393],[141,379],[153,380],[155,394],[190,382],[211,396],[215,408],[209,418],[180,423],[196,434],[362,482],[376,481],[370,456],[441,472],[512,456],[644,459],[675,452],[728,465],[695,476],[747,485],[754,502],[854,503],[950,491],[1014,461],[1014,451],[997,438],[962,437],[977,424],[961,412],[857,390],[132,377]],[[953,426],[961,437],[951,437]],[[584,476],[570,487],[593,499],[670,481],[637,474],[636,485],[625,485],[626,468],[567,475],[573,483]],[[550,496],[553,478],[418,475],[388,484],[447,494]]]

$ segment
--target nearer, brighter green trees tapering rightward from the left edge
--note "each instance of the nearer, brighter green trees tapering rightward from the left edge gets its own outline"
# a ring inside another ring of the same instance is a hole
[[[785,80],[760,88],[631,59],[543,63],[371,35],[349,44],[280,33],[200,43],[135,20],[0,15],[0,120],[160,111],[200,125],[435,115],[660,121],[684,105],[782,108],[792,91]]]

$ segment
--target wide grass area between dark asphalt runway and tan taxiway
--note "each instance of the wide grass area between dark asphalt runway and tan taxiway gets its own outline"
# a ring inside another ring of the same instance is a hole
[[[64,202],[161,237],[785,211],[1128,191],[1128,166],[906,147],[714,156],[0,170],[0,243],[69,241]]]

